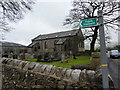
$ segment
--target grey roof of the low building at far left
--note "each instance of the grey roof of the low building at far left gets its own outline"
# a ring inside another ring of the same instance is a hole
[[[26,47],[25,45],[13,43],[13,42],[0,41],[0,44],[1,43],[2,43],[2,47]]]

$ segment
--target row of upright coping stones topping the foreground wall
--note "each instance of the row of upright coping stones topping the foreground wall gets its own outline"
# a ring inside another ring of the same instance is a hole
[[[34,73],[40,73],[41,75],[52,76],[55,78],[61,78],[62,80],[68,80],[74,83],[87,82],[87,79],[94,78],[95,71],[92,70],[78,70],[63,67],[56,67],[53,65],[39,64],[36,62],[28,62],[16,59],[2,59],[4,65],[15,66],[15,68],[23,69],[25,72],[31,71]],[[26,76],[27,76],[26,72]],[[86,78],[86,75],[88,78]]]

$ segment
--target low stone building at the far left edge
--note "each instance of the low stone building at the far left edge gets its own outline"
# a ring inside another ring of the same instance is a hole
[[[20,53],[27,52],[27,46],[13,43],[13,42],[0,42],[0,55],[7,58],[18,58]]]

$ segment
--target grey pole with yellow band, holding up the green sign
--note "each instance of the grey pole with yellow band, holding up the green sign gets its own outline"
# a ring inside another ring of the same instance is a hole
[[[108,79],[108,64],[106,55],[106,44],[105,44],[105,34],[104,34],[104,24],[103,24],[103,13],[102,10],[98,10],[98,21],[99,21],[99,34],[100,34],[100,49],[101,49],[101,68],[102,68],[102,82],[103,89],[109,89],[109,79]]]

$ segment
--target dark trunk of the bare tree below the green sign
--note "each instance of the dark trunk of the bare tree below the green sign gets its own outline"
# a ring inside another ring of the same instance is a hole
[[[98,26],[95,27],[95,30],[94,30],[94,34],[92,36],[92,41],[90,43],[90,52],[94,52],[95,50],[95,42],[96,42],[96,39],[97,39],[97,33],[98,33]]]

